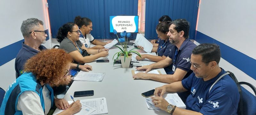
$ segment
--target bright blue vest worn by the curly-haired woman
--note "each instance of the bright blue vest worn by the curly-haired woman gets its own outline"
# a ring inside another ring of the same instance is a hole
[[[53,90],[49,84],[45,84],[47,89],[51,92],[51,101],[53,105]],[[40,97],[41,106],[44,110],[43,88],[36,76],[31,72],[25,72],[18,77],[6,90],[3,103],[0,109],[0,115],[22,115],[22,111],[17,110],[17,104],[20,94],[24,91],[34,91]],[[51,105],[51,106],[52,106]]]

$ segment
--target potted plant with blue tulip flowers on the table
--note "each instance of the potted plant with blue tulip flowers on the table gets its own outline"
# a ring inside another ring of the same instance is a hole
[[[113,30],[113,33],[116,34],[116,36],[118,38],[117,31]],[[130,32],[126,33],[126,31],[124,31],[124,32],[121,32],[120,35],[121,35],[121,38],[118,38],[118,42],[120,42],[122,48],[114,45],[115,47],[118,47],[121,50],[120,52],[116,53],[117,57],[115,59],[114,59],[114,57],[115,57],[116,54],[114,54],[114,56],[113,56],[114,64],[115,64],[116,60],[120,58],[121,63],[122,63],[122,67],[123,68],[129,68],[131,58],[132,58],[132,53],[137,54],[137,55],[140,56],[139,52],[133,51],[134,49],[139,49],[139,48],[132,48],[131,50],[128,51],[127,50],[127,43],[128,43],[127,41],[128,41],[128,38],[131,36],[131,33]],[[125,36],[127,38],[125,38]]]

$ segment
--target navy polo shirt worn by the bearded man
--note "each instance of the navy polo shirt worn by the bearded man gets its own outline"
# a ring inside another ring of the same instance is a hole
[[[180,49],[174,46],[172,47],[170,54],[168,55],[168,57],[172,59],[172,64],[175,66],[175,70],[179,68],[188,72],[183,79],[187,78],[192,73],[192,70],[190,70],[191,64],[189,60],[191,58],[192,50],[195,47],[196,47],[196,44],[194,44],[192,41],[190,41],[187,38],[181,44]],[[174,62],[174,56],[177,49],[178,49],[178,52],[176,55],[176,61]]]

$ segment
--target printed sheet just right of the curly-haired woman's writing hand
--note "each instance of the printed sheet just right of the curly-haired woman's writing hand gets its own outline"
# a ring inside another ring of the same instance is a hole
[[[94,98],[94,99],[83,99],[83,100],[80,100],[80,103],[90,106],[96,110],[89,115],[108,113],[107,101],[105,97]]]

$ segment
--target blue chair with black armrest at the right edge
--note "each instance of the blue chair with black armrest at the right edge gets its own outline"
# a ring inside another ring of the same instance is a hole
[[[252,88],[254,94],[256,95],[256,88],[251,84],[247,82],[239,82],[240,85],[248,85],[250,88]],[[241,86],[242,89],[242,113],[243,115],[256,115],[256,96],[254,96],[252,93],[250,93],[248,90],[246,90],[244,87]],[[240,103],[240,102],[239,102]]]

